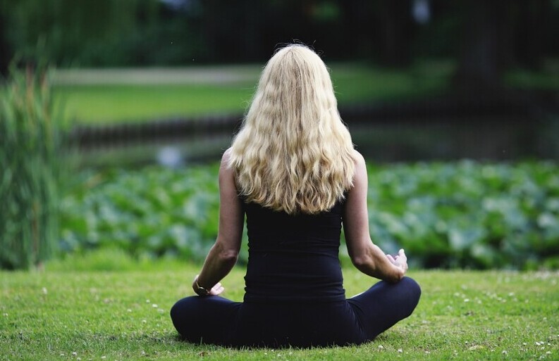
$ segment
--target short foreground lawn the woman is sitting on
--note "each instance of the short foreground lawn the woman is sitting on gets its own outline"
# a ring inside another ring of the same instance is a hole
[[[556,272],[412,270],[423,289],[416,312],[371,343],[233,350],[181,342],[173,329],[168,310],[192,294],[196,266],[54,266],[0,272],[0,360],[559,359]],[[348,295],[373,281],[352,267],[343,272]],[[242,298],[243,275],[236,268],[224,280],[226,296]]]

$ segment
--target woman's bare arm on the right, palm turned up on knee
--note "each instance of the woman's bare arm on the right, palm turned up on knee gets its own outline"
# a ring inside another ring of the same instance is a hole
[[[367,210],[367,166],[363,156],[357,151],[355,153],[357,160],[353,187],[348,192],[343,214],[348,253],[353,265],[364,274],[390,282],[400,281],[407,271],[407,258],[403,249],[395,257],[385,255],[371,241]]]

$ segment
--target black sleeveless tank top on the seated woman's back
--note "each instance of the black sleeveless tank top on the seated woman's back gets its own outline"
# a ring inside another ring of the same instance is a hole
[[[338,258],[343,201],[316,215],[243,205],[249,240],[245,302],[345,300]]]

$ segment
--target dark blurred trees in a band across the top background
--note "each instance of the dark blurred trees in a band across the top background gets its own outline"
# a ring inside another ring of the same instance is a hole
[[[533,64],[557,54],[557,1],[470,3],[429,1],[420,22],[413,16],[422,8],[416,1],[238,0],[231,6],[200,0],[0,0],[0,45],[6,43],[0,58],[28,56],[42,41],[44,55],[63,66],[263,61],[276,44],[295,38],[328,58],[393,66],[409,64],[413,56],[453,57],[464,46],[462,51],[474,52],[496,33],[493,58],[500,63]],[[486,11],[486,17],[476,16]],[[465,31],[488,24],[501,31]]]

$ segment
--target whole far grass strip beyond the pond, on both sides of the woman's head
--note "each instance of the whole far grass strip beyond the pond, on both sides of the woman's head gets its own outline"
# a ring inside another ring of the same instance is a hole
[[[556,59],[548,59],[541,71],[511,70],[503,82],[515,89],[557,90],[558,64]],[[241,114],[250,103],[262,65],[183,68],[176,70],[176,78],[173,69],[125,69],[122,75],[118,70],[110,70],[109,75],[97,74],[96,70],[85,70],[83,74],[72,70],[70,77],[56,82],[54,94],[57,101],[65,104],[70,118],[85,124],[207,113]],[[328,66],[340,106],[443,94],[455,70],[452,61],[432,59],[418,61],[404,70],[363,63]],[[216,82],[221,78],[221,84]]]

